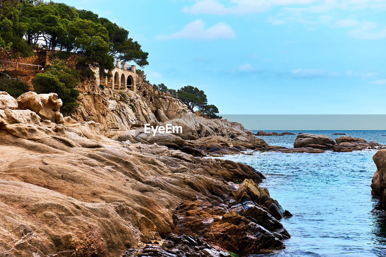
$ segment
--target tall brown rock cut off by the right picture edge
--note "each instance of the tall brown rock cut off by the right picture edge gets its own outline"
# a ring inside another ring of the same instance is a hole
[[[386,150],[379,150],[372,157],[377,167],[371,181],[371,194],[379,197],[386,209]]]

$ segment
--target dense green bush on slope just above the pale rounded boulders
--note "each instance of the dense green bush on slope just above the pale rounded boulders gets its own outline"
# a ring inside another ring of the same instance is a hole
[[[79,104],[79,90],[76,86],[80,82],[78,70],[68,68],[60,60],[54,60],[46,72],[39,73],[32,80],[34,91],[37,93],[57,93],[63,102],[62,112],[72,113]]]

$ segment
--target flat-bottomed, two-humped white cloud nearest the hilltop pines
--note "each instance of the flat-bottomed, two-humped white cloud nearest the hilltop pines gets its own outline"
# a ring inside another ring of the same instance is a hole
[[[219,22],[210,28],[205,28],[205,23],[202,20],[190,22],[182,30],[174,32],[171,35],[160,35],[157,37],[159,40],[215,40],[220,38],[235,38],[235,32],[228,24],[223,22]]]

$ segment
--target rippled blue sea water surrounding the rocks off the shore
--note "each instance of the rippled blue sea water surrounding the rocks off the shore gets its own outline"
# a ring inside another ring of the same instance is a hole
[[[257,132],[257,131],[254,131]],[[284,132],[284,130],[276,131]],[[386,131],[290,131],[328,135],[342,132],[352,137],[386,144]],[[296,135],[261,137],[269,145],[293,147]],[[371,196],[376,150],[321,154],[253,152],[224,159],[243,162],[266,176],[273,199],[293,217],[282,219],[291,238],[286,249],[251,256],[386,256],[386,216]]]

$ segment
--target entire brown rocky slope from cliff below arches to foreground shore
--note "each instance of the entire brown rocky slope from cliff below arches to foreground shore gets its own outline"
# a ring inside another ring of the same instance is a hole
[[[83,82],[77,120],[58,114],[55,94],[0,93],[0,256],[113,257],[127,249],[133,256],[153,248],[230,256],[224,250],[284,247],[289,234],[278,220],[290,214],[259,187],[264,176],[196,157],[266,147],[264,140],[138,88]],[[165,122],[183,133],[152,137],[140,128]]]

